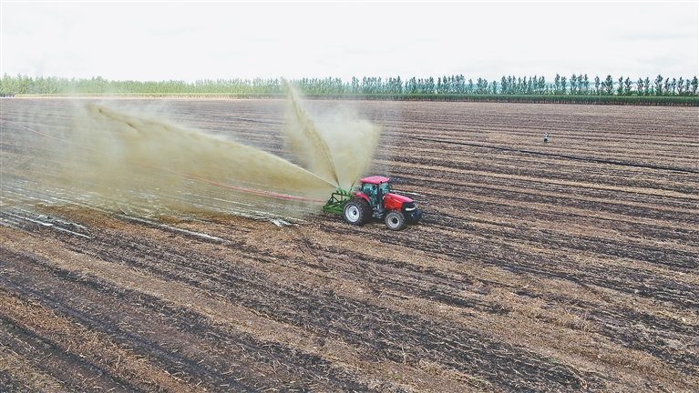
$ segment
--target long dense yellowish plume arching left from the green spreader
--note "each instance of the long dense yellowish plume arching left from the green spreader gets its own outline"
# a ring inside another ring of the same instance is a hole
[[[94,122],[87,130],[100,130],[101,138],[91,139],[97,146],[83,150],[83,154],[92,156],[89,161],[101,173],[123,166],[135,172],[165,168],[172,174],[280,192],[313,192],[333,186],[283,158],[223,137],[109,106],[88,104],[86,109],[87,123]],[[95,157],[96,151],[111,159]],[[113,162],[115,159],[121,162]],[[170,183],[170,176],[159,175],[162,177],[149,179],[153,185],[165,186],[162,180]],[[105,180],[112,181],[111,177]]]

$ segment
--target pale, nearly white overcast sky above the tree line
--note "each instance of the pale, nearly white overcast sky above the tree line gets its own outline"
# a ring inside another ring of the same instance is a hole
[[[0,74],[699,76],[699,2],[0,2]]]

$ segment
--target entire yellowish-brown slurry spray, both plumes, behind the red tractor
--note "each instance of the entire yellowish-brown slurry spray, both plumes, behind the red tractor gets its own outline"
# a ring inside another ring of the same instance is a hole
[[[319,212],[337,186],[353,185],[361,176],[380,127],[347,114],[316,127],[287,87],[294,109],[287,114],[286,135],[292,161],[305,168],[155,113],[92,103],[75,108],[67,124],[48,125],[56,129],[20,126],[35,133],[26,144],[51,153],[33,157],[42,162],[36,164],[36,173],[22,173],[17,166],[16,175],[36,179],[37,189],[34,194],[28,191],[26,199],[60,194],[53,199],[135,215],[201,212],[297,218]],[[347,122],[342,125],[343,121]],[[362,143],[343,146],[353,133]],[[22,187],[29,188],[26,183]]]

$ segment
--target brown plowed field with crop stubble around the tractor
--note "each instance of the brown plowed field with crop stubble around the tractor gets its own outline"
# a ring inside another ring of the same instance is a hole
[[[2,100],[0,391],[699,387],[696,108],[306,103],[384,126],[372,173],[425,211],[392,232],[43,186],[60,157],[18,125],[60,135],[75,103]],[[283,107],[167,105],[282,155]]]

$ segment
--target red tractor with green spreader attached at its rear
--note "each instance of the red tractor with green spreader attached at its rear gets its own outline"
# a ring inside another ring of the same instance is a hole
[[[412,199],[391,193],[388,177],[365,177],[361,183],[354,195],[338,189],[323,210],[342,214],[344,221],[356,226],[363,225],[370,217],[383,219],[391,230],[416,224],[422,217],[422,211]]]

